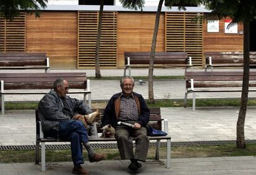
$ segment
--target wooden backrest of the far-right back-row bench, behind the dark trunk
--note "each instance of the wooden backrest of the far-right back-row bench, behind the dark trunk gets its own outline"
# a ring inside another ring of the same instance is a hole
[[[209,64],[211,57],[211,62],[213,64],[218,63],[243,63],[244,62],[244,54],[243,52],[205,52],[205,63]],[[250,52],[250,64],[256,63],[256,52]]]

